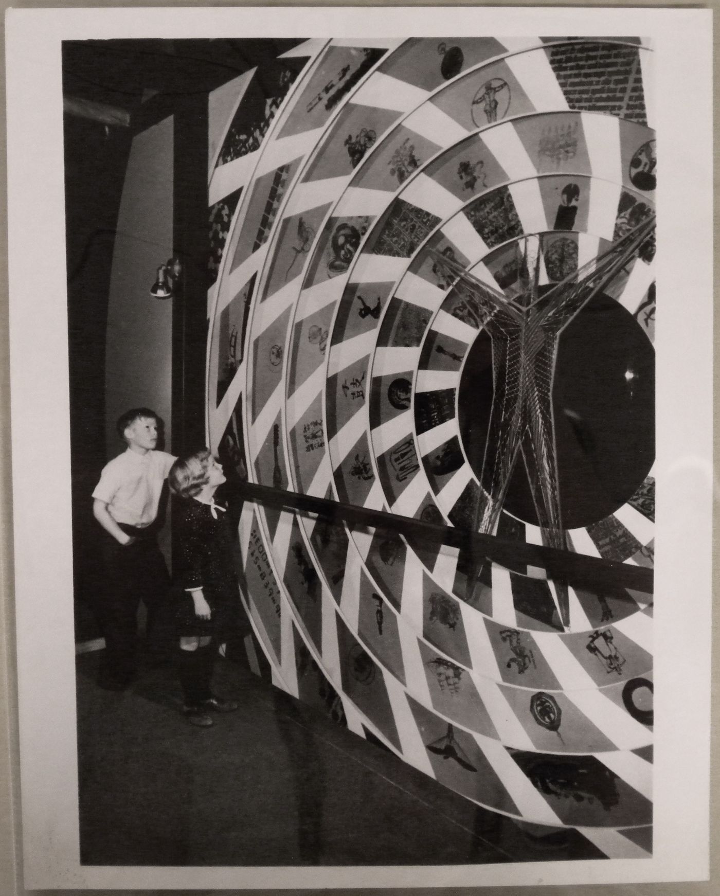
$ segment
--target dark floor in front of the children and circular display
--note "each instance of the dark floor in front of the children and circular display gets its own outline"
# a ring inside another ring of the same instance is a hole
[[[598,857],[520,828],[218,659],[240,710],[193,728],[172,665],[124,693],[78,656],[81,861],[88,865],[450,865]]]

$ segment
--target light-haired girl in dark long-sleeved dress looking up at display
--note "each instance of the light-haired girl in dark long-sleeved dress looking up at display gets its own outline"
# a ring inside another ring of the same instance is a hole
[[[221,700],[210,690],[214,636],[227,626],[238,601],[227,507],[213,500],[225,481],[222,467],[207,450],[178,458],[167,477],[170,491],[180,498],[174,553],[183,589],[176,611],[183,713],[201,728],[212,725],[210,711],[237,709],[236,702]]]

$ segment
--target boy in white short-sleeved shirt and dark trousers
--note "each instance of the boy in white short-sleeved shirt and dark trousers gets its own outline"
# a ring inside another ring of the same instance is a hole
[[[127,450],[110,461],[92,493],[92,513],[105,530],[103,560],[105,657],[99,685],[122,691],[133,677],[140,601],[148,611],[147,636],[165,598],[169,575],[158,547],[157,524],[163,483],[176,458],[156,451],[159,417],[133,408],[117,421]]]

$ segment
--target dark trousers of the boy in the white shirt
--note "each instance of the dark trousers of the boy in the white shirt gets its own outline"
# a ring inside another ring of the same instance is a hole
[[[158,547],[158,529],[137,529],[123,523],[120,528],[137,538],[121,545],[103,533],[106,589],[102,595],[102,629],[105,655],[100,684],[112,688],[128,685],[137,664],[137,612],[140,601],[147,609],[146,641],[153,644],[159,607],[167,599],[170,577]],[[156,645],[157,649],[157,645]]]

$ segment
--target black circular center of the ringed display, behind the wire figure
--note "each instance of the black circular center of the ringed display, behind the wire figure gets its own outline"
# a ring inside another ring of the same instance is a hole
[[[593,298],[561,333],[553,419],[562,526],[577,529],[625,504],[655,458],[655,351],[639,323],[612,298]],[[493,347],[480,332],[459,389],[459,427],[471,467],[484,481],[493,407]],[[537,525],[521,453],[505,510]]]

